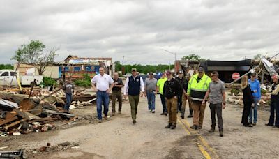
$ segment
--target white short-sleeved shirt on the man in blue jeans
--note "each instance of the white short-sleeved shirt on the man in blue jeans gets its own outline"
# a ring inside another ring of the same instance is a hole
[[[95,75],[92,79],[91,79],[91,83],[92,84],[97,84],[97,89],[98,91],[107,91],[108,89],[110,89],[110,84],[114,83],[114,80],[112,79],[112,77],[110,77],[110,75],[104,74],[102,75]]]

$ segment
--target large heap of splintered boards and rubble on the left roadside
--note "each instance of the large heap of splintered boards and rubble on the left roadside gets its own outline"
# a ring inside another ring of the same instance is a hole
[[[54,121],[66,120],[66,123],[78,118],[63,110],[65,102],[57,97],[43,98],[15,93],[3,93],[0,98],[0,135],[21,135],[30,132],[55,130]]]

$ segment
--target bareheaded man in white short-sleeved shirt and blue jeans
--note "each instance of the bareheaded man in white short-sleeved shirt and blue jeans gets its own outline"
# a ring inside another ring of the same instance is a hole
[[[95,75],[93,79],[91,79],[91,84],[93,87],[93,91],[97,92],[97,112],[99,123],[102,122],[102,104],[104,105],[104,114],[105,120],[107,120],[107,112],[109,112],[109,93],[112,91],[112,87],[114,86],[114,80],[110,75],[105,74],[105,68],[99,69],[98,75]],[[95,86],[97,85],[97,87]],[[111,85],[110,85],[111,84]]]

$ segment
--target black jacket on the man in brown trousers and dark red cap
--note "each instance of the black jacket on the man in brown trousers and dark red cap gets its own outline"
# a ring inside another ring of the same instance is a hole
[[[165,82],[163,92],[167,99],[171,99],[183,93],[183,88],[177,79],[172,78],[170,81],[167,80]]]

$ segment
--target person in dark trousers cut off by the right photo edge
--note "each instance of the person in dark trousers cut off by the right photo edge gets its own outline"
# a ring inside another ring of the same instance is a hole
[[[270,108],[270,117],[269,123],[266,123],[266,126],[274,126],[275,128],[279,128],[279,77],[278,75],[273,75],[271,77],[273,79],[273,84],[271,86],[271,108]],[[276,111],[276,119],[274,121],[274,109]],[[274,125],[275,124],[275,125]]]

